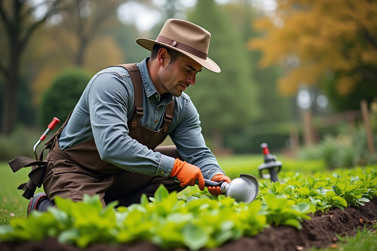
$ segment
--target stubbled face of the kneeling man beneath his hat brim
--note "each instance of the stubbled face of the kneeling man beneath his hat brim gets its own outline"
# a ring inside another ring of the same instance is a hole
[[[160,72],[160,81],[167,92],[175,97],[182,95],[189,85],[195,85],[196,74],[202,66],[189,57],[178,57]]]

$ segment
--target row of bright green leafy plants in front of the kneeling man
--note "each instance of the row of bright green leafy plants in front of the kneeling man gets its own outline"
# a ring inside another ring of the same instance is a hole
[[[344,173],[343,173],[344,174]],[[143,195],[140,204],[102,208],[98,196],[83,202],[56,198],[57,208],[32,212],[27,219],[13,219],[0,227],[1,240],[41,240],[56,237],[61,243],[86,247],[92,243],[129,243],[147,240],[163,248],[187,246],[191,250],[213,248],[228,240],[253,236],[270,225],[301,228],[303,219],[317,210],[363,205],[376,194],[374,169],[354,170],[347,176],[303,179],[299,173],[284,175],[285,184],[262,182],[257,199],[237,203],[223,195],[195,193],[177,198],[160,186],[154,198]]]

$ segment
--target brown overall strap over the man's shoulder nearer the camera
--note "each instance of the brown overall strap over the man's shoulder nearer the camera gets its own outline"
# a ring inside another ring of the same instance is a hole
[[[133,93],[134,93],[134,101],[133,101],[133,109],[132,109],[132,116],[128,126],[132,129],[135,129],[136,126],[139,124],[139,120],[141,116],[144,115],[143,111],[143,79],[141,79],[141,73],[139,68],[136,64],[120,64],[120,65],[113,65],[113,66],[121,66],[125,68],[128,73],[130,74],[132,85],[133,85]]]

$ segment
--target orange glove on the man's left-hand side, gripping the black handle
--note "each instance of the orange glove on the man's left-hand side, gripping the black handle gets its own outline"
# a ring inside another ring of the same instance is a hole
[[[176,176],[178,180],[181,181],[181,187],[185,187],[187,185],[195,186],[195,181],[198,180],[199,189],[202,191],[204,190],[204,178],[202,171],[199,167],[189,164],[186,161],[175,159],[170,176]]]

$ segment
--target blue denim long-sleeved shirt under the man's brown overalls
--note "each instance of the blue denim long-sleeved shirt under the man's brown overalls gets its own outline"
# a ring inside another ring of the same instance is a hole
[[[143,80],[144,115],[139,123],[158,131],[167,104],[175,100],[174,116],[167,134],[181,157],[198,166],[204,178],[211,180],[224,174],[215,156],[207,148],[201,134],[199,114],[190,97],[170,93],[160,100],[150,79],[147,61],[137,64]],[[134,93],[128,71],[110,67],[98,72],[89,81],[58,140],[62,150],[94,138],[101,159],[123,169],[149,175],[168,176],[175,159],[153,152],[129,135],[127,121],[131,119]]]

